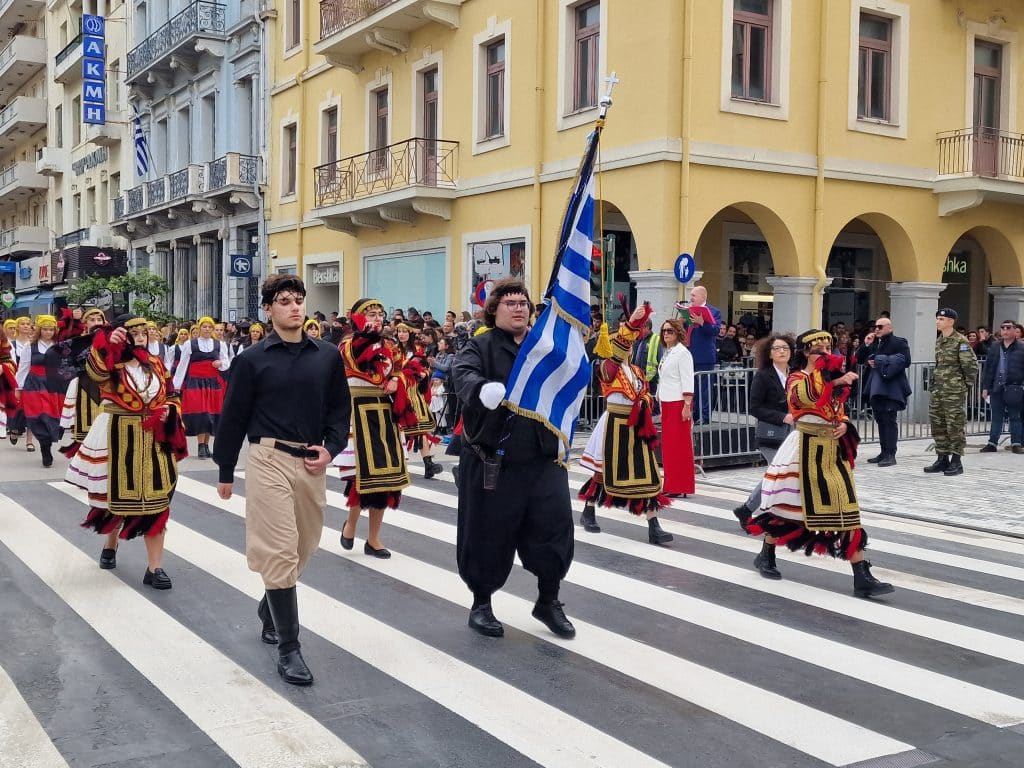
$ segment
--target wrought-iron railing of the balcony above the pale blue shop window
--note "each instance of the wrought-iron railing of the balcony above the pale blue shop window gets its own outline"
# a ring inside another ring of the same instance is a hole
[[[348,203],[410,186],[455,188],[459,142],[410,138],[313,169],[314,205]]]

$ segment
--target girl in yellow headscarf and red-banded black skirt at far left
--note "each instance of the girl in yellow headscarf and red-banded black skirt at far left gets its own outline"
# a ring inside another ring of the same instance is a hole
[[[60,409],[67,382],[46,375],[46,350],[56,341],[57,318],[52,314],[36,317],[32,343],[22,350],[17,362],[17,388],[25,423],[39,440],[43,466],[53,466],[53,443],[60,440]]]

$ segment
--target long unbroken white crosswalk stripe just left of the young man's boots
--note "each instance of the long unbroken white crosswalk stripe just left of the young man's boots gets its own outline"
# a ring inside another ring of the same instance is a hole
[[[84,492],[51,485],[86,503]],[[241,768],[366,765],[316,720],[98,569],[27,509],[4,496],[0,505],[7,548]]]

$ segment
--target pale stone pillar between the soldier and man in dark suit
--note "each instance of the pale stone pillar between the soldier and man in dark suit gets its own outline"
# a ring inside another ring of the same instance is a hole
[[[928,421],[928,392],[925,390],[925,369],[922,362],[935,361],[935,312],[939,309],[939,294],[945,283],[890,283],[892,298],[890,315],[893,333],[906,338],[913,364],[907,372],[913,390],[907,411],[913,421]]]

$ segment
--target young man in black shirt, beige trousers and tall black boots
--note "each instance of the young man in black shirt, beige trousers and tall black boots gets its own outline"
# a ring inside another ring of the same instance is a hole
[[[348,438],[351,400],[338,350],[302,331],[306,289],[291,274],[267,278],[263,310],[273,331],[236,358],[213,459],[217,493],[231,498],[242,440],[246,462],[246,556],[263,578],[262,639],[278,644],[285,682],[313,678],[299,645],[295,584],[319,547],[327,466]]]

